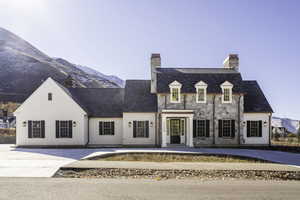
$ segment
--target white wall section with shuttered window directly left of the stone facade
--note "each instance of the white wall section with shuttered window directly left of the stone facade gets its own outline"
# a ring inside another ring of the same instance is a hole
[[[123,113],[123,144],[155,145],[155,117],[155,113]],[[133,121],[149,121],[149,138],[133,137]],[[130,127],[129,122],[131,122]]]

